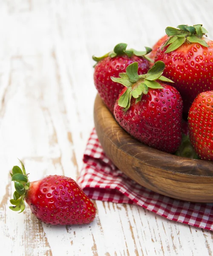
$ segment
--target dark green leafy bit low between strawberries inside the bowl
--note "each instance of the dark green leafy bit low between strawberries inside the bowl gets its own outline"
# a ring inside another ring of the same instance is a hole
[[[198,155],[194,151],[194,148],[190,142],[189,135],[182,134],[181,145],[175,153],[179,157],[187,157],[192,159],[199,159]]]

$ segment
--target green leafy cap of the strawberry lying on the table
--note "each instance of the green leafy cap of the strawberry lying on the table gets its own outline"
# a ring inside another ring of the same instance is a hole
[[[21,161],[20,163],[22,169],[19,166],[13,166],[12,173],[10,173],[12,181],[14,181],[15,192],[13,199],[10,200],[10,203],[14,206],[10,206],[9,208],[16,212],[23,212],[25,209],[24,198],[30,186],[25,167]]]

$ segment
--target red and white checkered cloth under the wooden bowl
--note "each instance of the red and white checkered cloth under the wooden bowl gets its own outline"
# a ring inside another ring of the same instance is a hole
[[[78,184],[89,198],[137,204],[167,219],[213,230],[213,204],[169,198],[135,183],[104,154],[95,129],[86,146]]]

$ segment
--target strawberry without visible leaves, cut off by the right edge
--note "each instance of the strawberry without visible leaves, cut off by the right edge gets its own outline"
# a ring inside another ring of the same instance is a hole
[[[213,161],[213,91],[200,93],[188,116],[191,143],[201,159]]]

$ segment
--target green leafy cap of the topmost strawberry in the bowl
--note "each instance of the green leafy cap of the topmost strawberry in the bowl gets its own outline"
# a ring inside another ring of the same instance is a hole
[[[165,53],[172,52],[178,49],[182,44],[187,42],[188,44],[191,43],[198,43],[204,47],[209,47],[209,45],[202,39],[202,37],[208,33],[206,29],[202,26],[202,24],[197,24],[194,26],[188,25],[179,25],[177,28],[173,28],[168,26],[165,29],[166,33],[170,38],[165,42],[161,49],[168,46]]]

